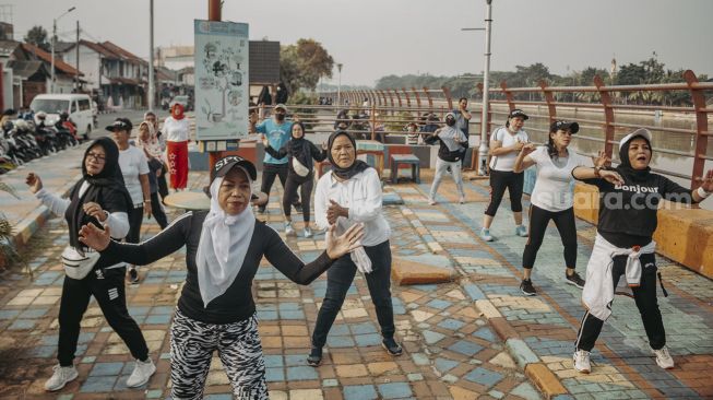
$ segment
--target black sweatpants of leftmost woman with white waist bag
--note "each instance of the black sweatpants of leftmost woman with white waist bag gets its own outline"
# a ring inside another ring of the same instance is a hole
[[[84,279],[64,277],[59,305],[59,349],[57,360],[61,366],[73,364],[80,322],[94,296],[109,326],[127,343],[131,355],[141,361],[148,357],[148,348],[136,321],[127,310],[123,277],[126,268],[98,269]]]

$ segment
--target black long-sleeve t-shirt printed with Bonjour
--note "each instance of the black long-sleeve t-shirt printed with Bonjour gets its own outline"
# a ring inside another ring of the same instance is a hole
[[[691,190],[663,175],[645,174],[632,178],[621,174],[625,185],[615,186],[605,179],[581,179],[599,189],[597,232],[617,247],[645,246],[651,243],[658,224],[656,213],[662,199],[691,203]]]

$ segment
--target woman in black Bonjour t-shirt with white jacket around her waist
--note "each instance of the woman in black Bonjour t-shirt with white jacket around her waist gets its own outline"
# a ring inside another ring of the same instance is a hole
[[[638,129],[619,142],[621,164],[616,169],[577,167],[572,170],[574,178],[599,189],[597,235],[582,291],[586,313],[573,356],[574,368],[581,373],[592,369],[590,351],[604,321],[611,315],[614,290],[622,274],[633,292],[656,364],[665,369],[674,367],[656,301],[656,243],[653,240],[656,214],[662,199],[684,203],[703,201],[713,191],[713,169],[708,170],[698,190],[689,190],[652,173],[651,156],[651,132]]]

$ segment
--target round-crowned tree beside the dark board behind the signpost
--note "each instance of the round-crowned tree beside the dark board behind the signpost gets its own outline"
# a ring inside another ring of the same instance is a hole
[[[314,90],[322,77],[332,78],[333,68],[334,59],[314,39],[299,39],[280,49],[280,77],[289,93]]]

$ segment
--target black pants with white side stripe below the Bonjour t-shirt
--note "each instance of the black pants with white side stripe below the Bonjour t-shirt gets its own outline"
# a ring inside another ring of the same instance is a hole
[[[626,272],[627,258],[627,256],[614,257],[611,279],[615,289],[619,283],[619,278]],[[644,254],[639,259],[641,264],[644,266],[641,272],[641,282],[639,287],[632,287],[631,290],[644,323],[649,345],[654,350],[659,350],[666,345],[666,331],[664,330],[664,320],[661,318],[661,310],[656,301],[656,257],[653,254]],[[577,350],[592,351],[603,326],[603,320],[586,311],[577,334]]]

